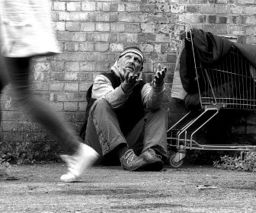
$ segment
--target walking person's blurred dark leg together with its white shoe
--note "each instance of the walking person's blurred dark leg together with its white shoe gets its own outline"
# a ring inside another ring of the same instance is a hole
[[[69,172],[62,175],[60,179],[64,182],[74,182],[82,175],[83,170],[94,164],[98,153],[88,145],[80,143],[78,136],[67,122],[61,116],[57,116],[50,106],[31,93],[29,58],[5,58],[5,62],[18,103],[53,135],[56,135],[59,145],[69,152],[69,155],[62,156],[62,160],[69,167]]]

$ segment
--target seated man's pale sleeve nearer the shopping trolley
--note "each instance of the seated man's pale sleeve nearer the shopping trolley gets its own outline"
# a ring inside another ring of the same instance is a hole
[[[157,110],[162,104],[164,93],[164,85],[156,87],[147,83],[142,87],[142,103],[148,110]]]

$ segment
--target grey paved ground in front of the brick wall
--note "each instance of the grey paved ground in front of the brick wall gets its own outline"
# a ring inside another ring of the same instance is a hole
[[[184,166],[162,172],[93,167],[61,183],[63,164],[12,166],[0,212],[256,212],[256,174]]]

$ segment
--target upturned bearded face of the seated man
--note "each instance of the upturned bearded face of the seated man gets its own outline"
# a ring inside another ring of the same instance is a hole
[[[122,67],[126,69],[126,72],[133,73],[137,75],[142,70],[142,59],[140,56],[134,54],[133,52],[127,52],[119,59],[120,72],[122,72]]]

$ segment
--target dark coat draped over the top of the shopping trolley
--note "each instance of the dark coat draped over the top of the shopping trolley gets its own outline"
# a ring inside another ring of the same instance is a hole
[[[191,40],[185,40],[185,47],[181,52],[180,75],[182,86],[187,92],[184,101],[187,108],[190,110],[200,107],[198,87],[204,87],[202,82],[198,82],[200,76],[197,76],[195,66],[197,68],[213,67],[221,62],[222,59],[228,56],[234,49],[237,49],[239,54],[241,54],[245,60],[248,60],[251,66],[256,68],[256,46],[234,43],[226,38],[198,29],[191,30],[191,33],[188,33],[188,37],[192,38],[193,46]],[[235,64],[231,63],[230,66],[235,66]],[[230,69],[235,70],[235,67],[231,67]],[[250,68],[244,69],[250,70]]]

